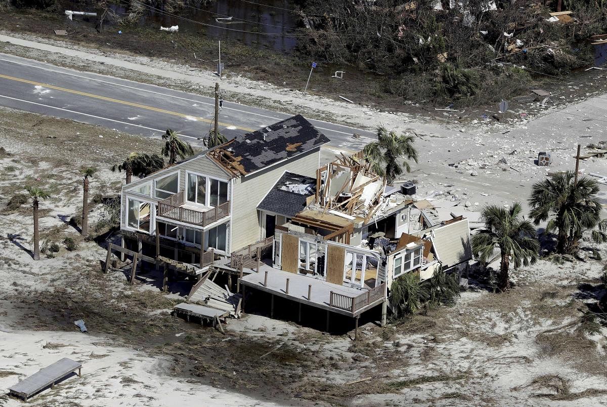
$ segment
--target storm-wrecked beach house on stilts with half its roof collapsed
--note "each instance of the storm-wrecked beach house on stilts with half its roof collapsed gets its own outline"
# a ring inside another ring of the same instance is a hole
[[[242,291],[243,307],[271,315],[275,300],[298,320],[325,312],[327,330],[331,315],[358,326],[379,306],[385,324],[394,279],[466,267],[468,222],[426,219],[425,203],[386,185],[362,152],[320,167],[328,142],[297,115],[125,185],[123,248],[194,277],[189,299],[211,307],[222,273],[236,316]]]

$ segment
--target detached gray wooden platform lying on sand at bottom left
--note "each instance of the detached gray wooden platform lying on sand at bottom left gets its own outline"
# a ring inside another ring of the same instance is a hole
[[[54,387],[57,381],[76,370],[78,370],[78,376],[80,376],[81,368],[82,363],[63,358],[46,368],[40,369],[30,377],[19,381],[15,386],[8,388],[8,392],[16,397],[21,397],[23,400],[27,400],[42,389],[49,386]]]

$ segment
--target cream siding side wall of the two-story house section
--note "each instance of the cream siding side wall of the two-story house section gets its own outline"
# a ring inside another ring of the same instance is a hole
[[[261,237],[257,205],[285,171],[316,177],[320,148],[297,156],[287,163],[279,163],[256,174],[236,179],[232,202],[232,247],[238,250]]]

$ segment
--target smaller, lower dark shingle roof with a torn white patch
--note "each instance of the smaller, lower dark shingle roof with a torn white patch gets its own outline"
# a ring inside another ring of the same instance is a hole
[[[293,217],[306,207],[305,200],[316,193],[316,179],[286,172],[266,194],[257,209]]]

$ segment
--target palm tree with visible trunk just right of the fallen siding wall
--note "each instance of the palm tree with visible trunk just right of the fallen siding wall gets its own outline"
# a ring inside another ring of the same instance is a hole
[[[500,291],[508,287],[510,262],[514,263],[514,268],[519,268],[521,265],[534,264],[538,258],[540,242],[535,237],[531,222],[520,216],[522,211],[518,202],[509,209],[489,205],[481,212],[485,228],[472,236],[472,250],[481,261],[491,258],[496,247],[500,249]]]

